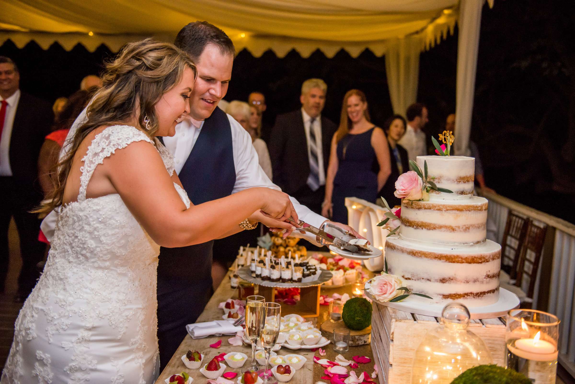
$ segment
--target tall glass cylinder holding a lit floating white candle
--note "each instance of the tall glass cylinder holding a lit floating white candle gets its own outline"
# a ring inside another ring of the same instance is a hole
[[[512,309],[507,314],[505,364],[534,384],[555,384],[557,376],[557,316],[535,309]]]

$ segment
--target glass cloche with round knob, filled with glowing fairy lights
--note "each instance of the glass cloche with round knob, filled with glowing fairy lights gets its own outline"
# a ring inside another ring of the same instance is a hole
[[[492,364],[483,340],[467,329],[471,316],[463,304],[447,304],[441,324],[428,330],[413,357],[412,384],[448,384],[469,368]]]

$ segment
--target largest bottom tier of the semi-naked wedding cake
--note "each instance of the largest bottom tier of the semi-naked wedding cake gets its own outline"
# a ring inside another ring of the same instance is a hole
[[[477,307],[499,299],[501,246],[496,242],[453,247],[410,241],[400,235],[386,240],[385,260],[388,272],[398,276],[405,287],[433,298],[413,296],[421,302],[458,301]]]

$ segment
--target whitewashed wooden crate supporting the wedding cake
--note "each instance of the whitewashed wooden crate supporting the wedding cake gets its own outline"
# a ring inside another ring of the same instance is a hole
[[[412,314],[373,302],[371,349],[380,384],[411,384],[413,354],[425,333],[439,325],[435,317]],[[469,330],[489,348],[493,363],[504,366],[505,319],[471,320]]]

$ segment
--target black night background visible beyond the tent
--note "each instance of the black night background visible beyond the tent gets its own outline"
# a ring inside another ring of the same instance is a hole
[[[575,222],[575,2],[498,0],[482,14],[471,139],[481,153],[489,187],[527,206]],[[427,104],[425,130],[443,130],[455,110],[457,28],[453,36],[420,56],[418,101]],[[30,42],[21,50],[11,41],[0,55],[20,67],[21,88],[53,101],[79,88],[87,74],[114,57],[104,45],[65,51]],[[343,95],[351,88],[367,95],[375,124],[392,114],[385,58],[366,50],[358,58],[340,51],[328,59],[320,51],[304,59],[296,52],[260,58],[241,51],[225,100],[247,100],[252,90],[266,95],[264,122],[299,108],[301,83],[310,77],[328,84],[323,114],[339,122]]]

